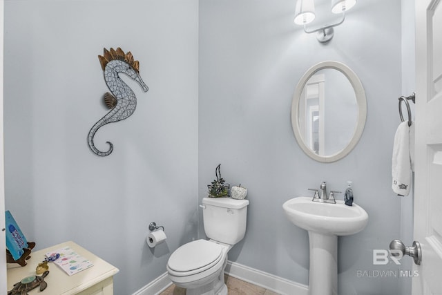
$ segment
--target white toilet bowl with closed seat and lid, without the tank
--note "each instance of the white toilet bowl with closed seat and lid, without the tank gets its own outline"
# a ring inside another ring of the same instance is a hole
[[[194,240],[182,245],[167,263],[169,278],[185,288],[186,295],[227,295],[224,268],[230,248],[213,240]]]

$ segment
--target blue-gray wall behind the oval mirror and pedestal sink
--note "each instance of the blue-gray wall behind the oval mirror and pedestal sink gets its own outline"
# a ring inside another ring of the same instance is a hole
[[[361,233],[339,238],[340,294],[402,294],[403,278],[357,276],[358,270],[397,269],[373,265],[372,253],[387,249],[401,233],[401,199],[391,189],[402,91],[401,1],[358,1],[326,45],[294,26],[294,3],[200,1],[199,196],[206,196],[221,163],[224,179],[247,187],[251,202],[247,234],[229,258],[307,284],[307,232],[291,225],[282,203],[310,196],[307,189],[321,181],[343,190],[352,180],[355,202],[368,212],[369,223]],[[324,60],[352,68],[367,95],[361,141],[331,164],[302,153],[290,124],[298,80]]]

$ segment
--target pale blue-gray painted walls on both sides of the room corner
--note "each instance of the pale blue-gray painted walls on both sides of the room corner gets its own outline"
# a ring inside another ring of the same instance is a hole
[[[251,202],[230,260],[307,284],[307,232],[282,203],[323,180],[337,190],[352,180],[370,219],[339,238],[340,294],[403,294],[404,278],[356,273],[396,269],[372,265],[372,251],[410,236],[390,188],[397,97],[410,90],[400,0],[358,1],[327,45],[294,25],[292,0],[6,0],[5,10],[6,209],[37,247],[75,240],[119,267],[115,294],[130,294],[166,271],[198,222],[204,238],[197,202],[221,163]],[[131,83],[137,110],[100,129],[115,151],[99,158],[86,135],[106,112],[97,55],[111,46],[140,60],[150,90]],[[298,80],[324,60],[354,70],[368,108],[356,149],[331,164],[302,153],[289,117]],[[151,221],[168,235],[154,251],[144,241]]]

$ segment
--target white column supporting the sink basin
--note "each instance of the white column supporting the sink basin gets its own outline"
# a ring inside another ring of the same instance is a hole
[[[338,236],[309,231],[309,295],[338,294]]]

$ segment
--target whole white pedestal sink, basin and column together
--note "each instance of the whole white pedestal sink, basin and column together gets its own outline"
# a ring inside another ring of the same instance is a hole
[[[294,225],[309,232],[309,295],[337,295],[338,236],[362,231],[368,222],[367,212],[355,203],[313,202],[311,197],[293,198],[282,208]]]

